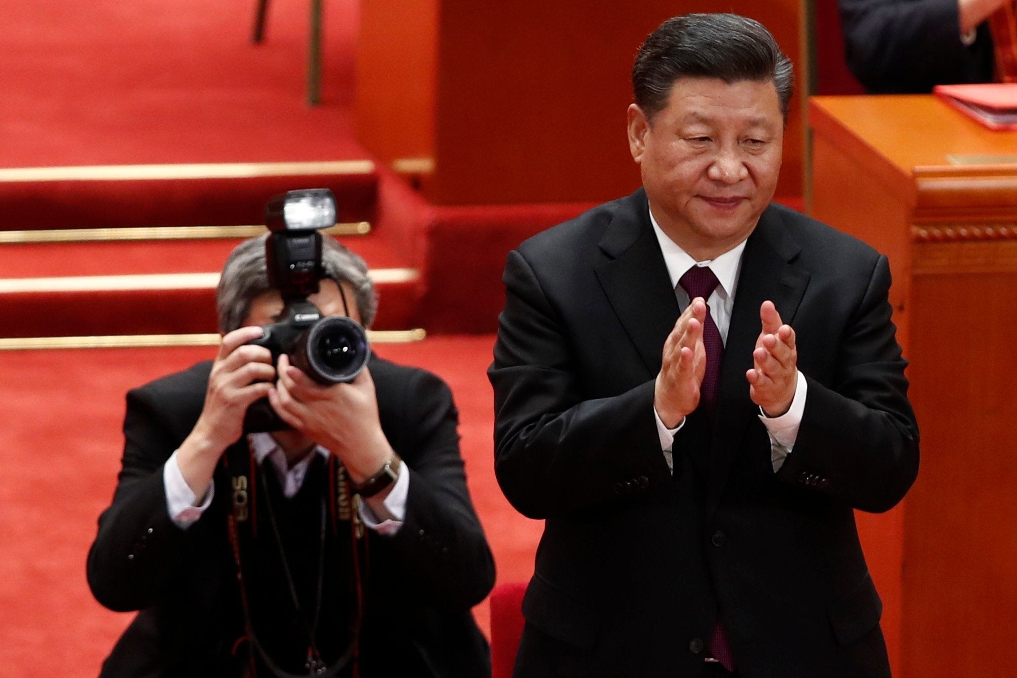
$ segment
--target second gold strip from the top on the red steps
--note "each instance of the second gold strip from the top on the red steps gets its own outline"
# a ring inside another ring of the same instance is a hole
[[[371,232],[369,222],[337,224],[324,229],[335,237],[364,236]],[[148,226],[105,229],[39,229],[0,231],[0,244],[83,243],[134,240],[213,240],[254,238],[266,233],[263,226]]]

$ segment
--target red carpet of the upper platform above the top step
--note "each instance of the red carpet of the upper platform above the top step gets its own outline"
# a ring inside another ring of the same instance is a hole
[[[0,165],[344,160],[357,4],[324,5],[322,106],[304,104],[305,1],[0,4]]]

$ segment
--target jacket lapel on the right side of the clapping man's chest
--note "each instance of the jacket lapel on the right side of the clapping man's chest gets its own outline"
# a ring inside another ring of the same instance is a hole
[[[781,319],[793,326],[810,273],[795,264],[800,247],[786,234],[781,217],[769,207],[745,243],[720,372],[720,407],[713,422],[707,515],[713,515],[745,429],[759,414],[749,397],[745,372],[761,327],[760,306],[770,300]],[[755,450],[753,451],[755,453]]]

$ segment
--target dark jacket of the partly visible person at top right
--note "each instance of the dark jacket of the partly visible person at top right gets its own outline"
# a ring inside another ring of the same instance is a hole
[[[837,0],[844,52],[872,93],[922,94],[936,84],[993,81],[993,39],[960,41],[957,0]]]

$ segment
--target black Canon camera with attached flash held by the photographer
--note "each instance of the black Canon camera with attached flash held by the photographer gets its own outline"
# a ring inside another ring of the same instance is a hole
[[[270,200],[264,211],[270,231],[264,244],[268,284],[279,290],[283,312],[279,322],[263,325],[261,336],[248,344],[268,349],[274,365],[286,354],[291,364],[318,383],[353,381],[370,358],[367,332],[351,318],[322,317],[308,300],[324,276],[318,231],[335,226],[336,196],[325,188],[290,191]],[[247,409],[245,433],[285,428],[267,398]]]

